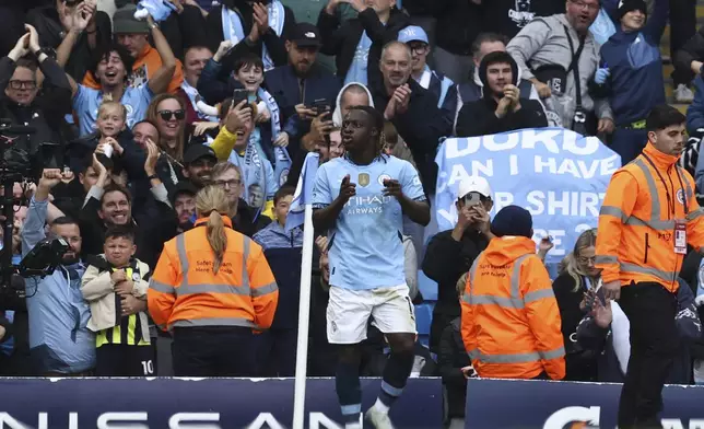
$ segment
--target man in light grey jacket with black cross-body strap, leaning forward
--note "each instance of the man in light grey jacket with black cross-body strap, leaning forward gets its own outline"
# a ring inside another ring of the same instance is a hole
[[[614,128],[608,100],[588,91],[599,66],[599,46],[589,32],[599,8],[599,0],[567,0],[566,13],[536,18],[506,47],[521,77],[545,100],[551,120],[589,136]]]

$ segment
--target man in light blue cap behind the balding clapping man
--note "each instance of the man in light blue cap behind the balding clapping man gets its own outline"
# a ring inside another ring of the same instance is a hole
[[[399,32],[398,40],[411,49],[411,78],[436,97],[437,108],[447,120],[453,121],[457,109],[457,85],[448,77],[427,67],[431,45],[425,31],[409,25]]]

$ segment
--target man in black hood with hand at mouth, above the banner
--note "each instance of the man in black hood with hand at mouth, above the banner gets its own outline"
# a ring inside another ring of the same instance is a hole
[[[540,102],[520,96],[518,66],[511,55],[497,50],[484,56],[479,66],[479,79],[484,88],[483,97],[466,103],[459,111],[457,137],[548,126]]]

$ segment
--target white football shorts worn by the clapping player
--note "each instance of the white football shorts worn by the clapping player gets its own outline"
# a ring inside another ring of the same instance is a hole
[[[369,317],[374,317],[372,323],[384,334],[416,334],[413,302],[406,283],[369,290],[330,288],[327,312],[330,344],[362,343]]]

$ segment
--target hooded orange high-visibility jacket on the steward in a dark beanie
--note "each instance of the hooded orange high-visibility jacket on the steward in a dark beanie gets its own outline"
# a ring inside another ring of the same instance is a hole
[[[462,340],[480,376],[565,376],[558,301],[532,240],[492,240],[467,276],[461,306]]]

